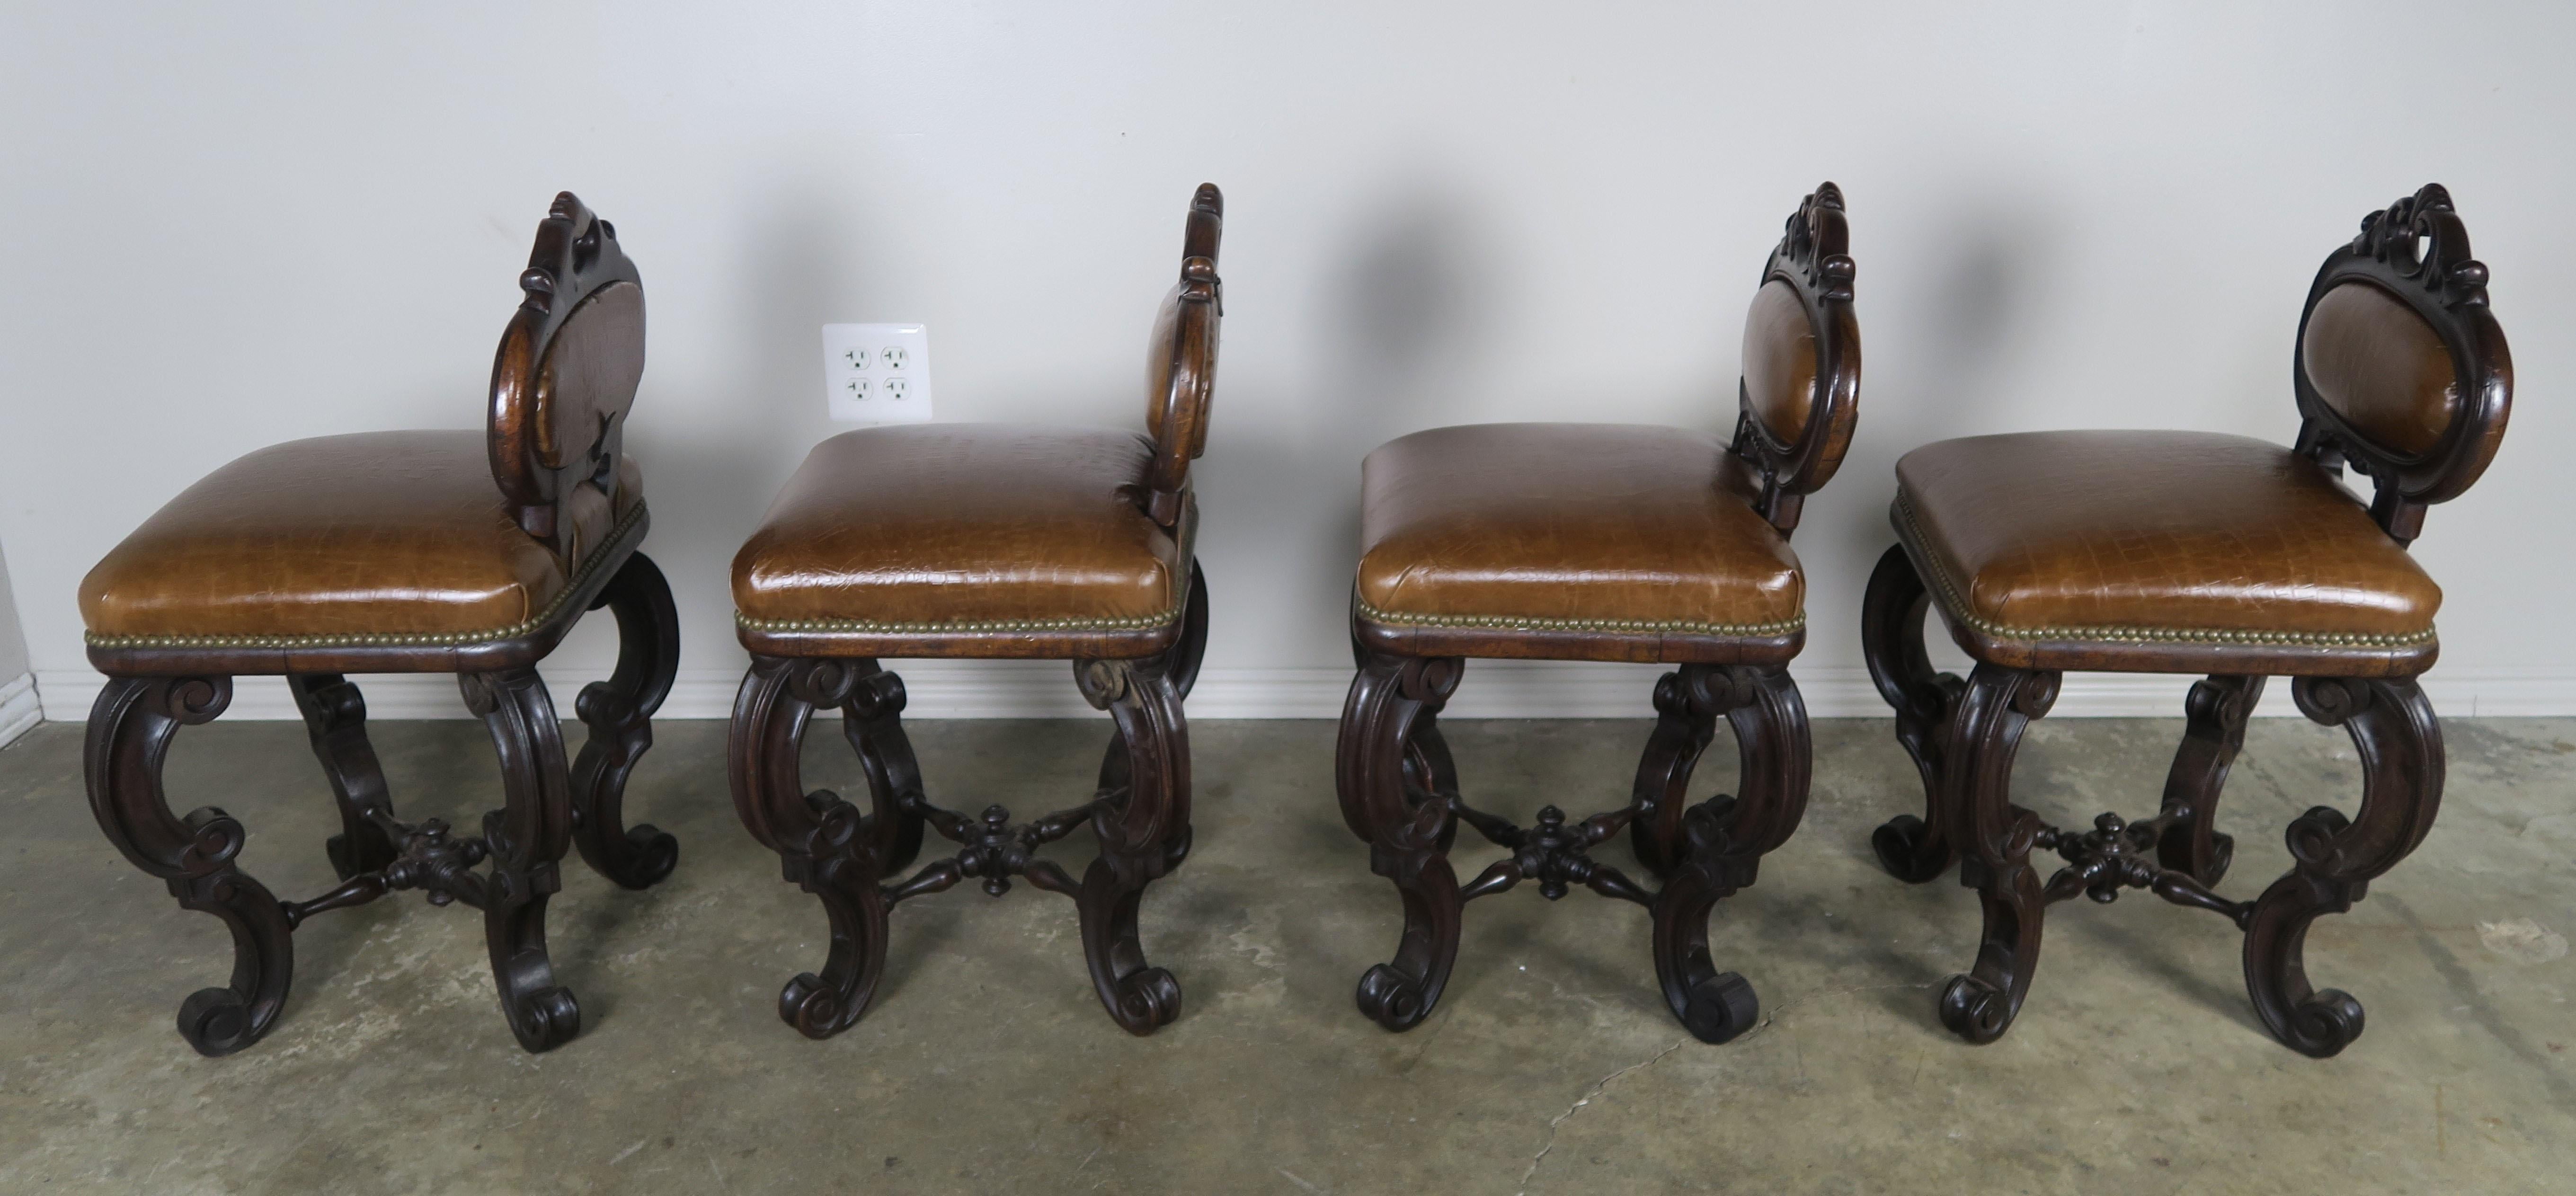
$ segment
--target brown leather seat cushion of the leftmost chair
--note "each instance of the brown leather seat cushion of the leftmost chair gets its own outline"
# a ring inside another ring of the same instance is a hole
[[[482,430],[325,436],[260,448],[183,490],[80,583],[100,647],[438,644],[528,632],[580,559],[641,513],[574,510],[577,559],[510,521]]]

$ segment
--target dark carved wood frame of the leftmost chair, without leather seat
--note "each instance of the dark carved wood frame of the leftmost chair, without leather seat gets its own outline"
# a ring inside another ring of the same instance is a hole
[[[641,286],[616,229],[569,191],[556,196],[520,276],[526,302],[502,335],[492,371],[495,479],[513,495],[520,526],[541,539],[556,534],[556,495],[585,479],[616,485],[618,477],[631,389],[582,412],[598,433],[582,454],[541,454],[531,430],[546,418],[544,402],[536,402],[546,348],[585,299],[613,284]],[[569,405],[574,397],[562,400]],[[98,827],[137,869],[167,882],[183,910],[211,912],[232,931],[232,982],[180,1003],[178,1031],[188,1046],[232,1054],[260,1041],[286,1008],[296,925],[399,889],[425,889],[430,905],[464,902],[484,912],[502,1016],[520,1046],[546,1052],[580,1034],[580,1003],[556,985],[546,956],[546,897],[562,887],[556,863],[564,848],[577,845],[595,871],[629,889],[659,882],[677,861],[670,835],[652,825],[626,827],[621,812],[626,776],[652,745],[649,719],[680,662],[670,585],[636,552],[644,528],[636,505],[621,536],[582,562],[556,616],[515,637],[435,647],[90,647],[90,662],[108,673],[90,709],[85,755]],[[618,665],[574,701],[590,740],[567,771],[554,701],[536,662],[585,611],[603,606],[618,621]],[[366,737],[366,701],[345,673],[456,673],[466,709],[482,717],[502,766],[505,804],[484,815],[482,835],[453,835],[435,817],[394,817],[384,768]],[[178,727],[224,714],[234,675],[286,675],[340,802],[343,833],[330,838],[340,884],[319,897],[278,900],[234,863],[245,843],[240,820],[216,807],[178,817],[162,796],[170,737]],[[484,861],[489,869],[477,871]]]

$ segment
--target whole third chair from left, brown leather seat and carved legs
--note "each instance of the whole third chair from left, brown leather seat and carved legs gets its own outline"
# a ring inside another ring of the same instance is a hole
[[[1754,882],[1806,809],[1808,729],[1788,662],[1806,644],[1806,575],[1788,546],[1801,500],[1842,464],[1860,394],[1860,327],[1842,191],[1788,219],[1744,322],[1734,441],[1682,428],[1486,423],[1404,436],[1363,467],[1360,577],[1342,709],[1342,820],[1404,897],[1396,959],[1360,977],[1360,1013],[1422,1023],[1458,959],[1466,902],[1538,882],[1654,910],[1654,972],[1682,1026],[1752,1026],[1744,977],[1708,961],[1710,907]],[[1682,665],[1623,809],[1517,827],[1466,804],[1437,714],[1466,657]],[[1726,717],[1739,796],[1690,807],[1690,771]],[[1463,889],[1466,822],[1512,851]],[[1662,892],[1589,848],[1628,830]]]

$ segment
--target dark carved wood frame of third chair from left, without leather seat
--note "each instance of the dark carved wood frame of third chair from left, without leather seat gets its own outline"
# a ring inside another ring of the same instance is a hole
[[[1852,317],[1852,258],[1842,191],[1824,183],[1788,219],[1788,235],[1762,265],[1762,284],[1785,281],[1816,335],[1816,387],[1795,441],[1780,441],[1754,418],[1739,384],[1734,451],[1762,477],[1757,508],[1795,531],[1801,500],[1832,479],[1852,438],[1860,400],[1860,327]],[[1759,1003],[1736,972],[1708,956],[1708,915],[1718,900],[1754,882],[1765,853],[1798,830],[1806,812],[1811,745],[1806,704],[1788,675],[1806,632],[1775,637],[1510,632],[1489,626],[1376,624],[1352,603],[1358,678],[1342,706],[1334,789],[1342,822],[1368,843],[1368,866],[1396,884],[1404,936],[1396,956],[1360,977],[1360,1013],[1391,1031],[1430,1016],[1458,959],[1466,902],[1538,882],[1558,900],[1582,884],[1643,905],[1654,915],[1654,972],[1664,1003],[1700,1041],[1744,1034]],[[1633,660],[1672,662],[1654,686],[1656,724],[1620,809],[1566,822],[1548,804],[1535,827],[1481,812],[1458,794],[1458,771],[1437,717],[1458,688],[1466,657]],[[1690,776],[1716,737],[1716,719],[1736,737],[1736,796],[1690,804]],[[1458,825],[1473,827],[1512,856],[1458,884],[1448,851]],[[1638,863],[1662,889],[1589,856],[1628,833]]]

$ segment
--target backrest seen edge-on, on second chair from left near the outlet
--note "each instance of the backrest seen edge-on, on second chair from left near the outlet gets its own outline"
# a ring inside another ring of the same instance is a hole
[[[1144,358],[1144,425],[1154,436],[1146,513],[1175,526],[1188,505],[1190,461],[1208,451],[1208,400],[1216,394],[1216,325],[1226,314],[1216,278],[1216,240],[1226,196],[1200,183],[1180,240],[1180,281],[1162,296]]]

